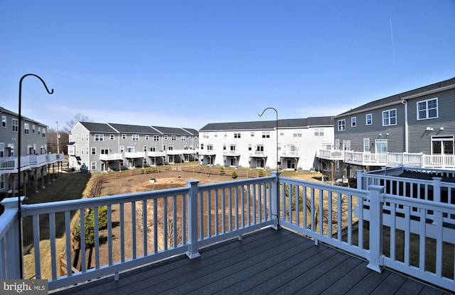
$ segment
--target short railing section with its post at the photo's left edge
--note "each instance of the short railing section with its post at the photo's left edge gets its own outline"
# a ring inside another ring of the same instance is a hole
[[[21,196],[21,202],[25,199],[25,196]],[[2,275],[0,279],[22,279],[21,269],[23,269],[23,265],[21,264],[22,260],[19,255],[21,255],[22,251],[22,239],[19,238],[19,233],[22,233],[22,230],[19,230],[19,221],[18,221],[18,199],[16,197],[13,198],[5,198],[0,202],[1,205],[4,206],[4,213],[0,216],[0,220],[2,216],[8,216],[10,213],[12,217],[11,227],[7,229],[7,233],[5,237],[0,237],[0,241],[6,242],[6,247],[1,250],[0,258],[6,258],[6,261],[0,261],[0,265],[7,266],[7,270],[3,273],[3,266],[2,266]],[[2,221],[0,226],[4,226],[4,222]],[[18,244],[21,245],[18,245]]]

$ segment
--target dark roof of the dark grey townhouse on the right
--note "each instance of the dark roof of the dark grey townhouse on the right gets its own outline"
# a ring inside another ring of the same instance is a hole
[[[337,118],[337,117],[341,117],[341,116],[346,116],[349,113],[358,113],[360,111],[363,111],[363,110],[366,110],[366,109],[370,109],[370,108],[380,108],[381,106],[385,106],[387,104],[399,103],[400,101],[402,101],[402,99],[405,99],[406,97],[409,97],[409,96],[412,96],[412,95],[416,95],[416,94],[423,94],[423,93],[425,93],[427,91],[432,91],[434,89],[447,87],[447,86],[450,86],[450,85],[453,85],[453,84],[455,84],[455,77],[451,78],[451,79],[448,79],[448,80],[445,80],[445,81],[441,81],[441,82],[437,82],[437,83],[434,83],[434,84],[430,84],[430,85],[427,85],[427,86],[424,86],[424,87],[419,87],[417,89],[413,89],[413,90],[410,90],[410,91],[405,91],[405,92],[402,92],[400,94],[395,94],[395,95],[392,95],[392,96],[388,96],[388,97],[385,97],[384,99],[378,99],[378,100],[375,100],[375,101],[370,101],[368,104],[363,104],[362,106],[358,106],[357,108],[353,108],[350,111],[346,111],[346,112],[341,113],[341,114],[339,114],[338,116],[335,116],[335,117]]]

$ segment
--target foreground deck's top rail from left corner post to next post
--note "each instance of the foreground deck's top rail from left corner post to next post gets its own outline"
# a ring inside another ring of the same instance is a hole
[[[46,214],[62,211],[73,211],[80,208],[122,204],[127,202],[159,199],[166,196],[188,194],[189,187],[176,189],[163,189],[159,191],[144,191],[134,194],[119,194],[115,196],[101,196],[90,199],[77,199],[68,201],[53,201],[48,203],[28,204],[21,206],[22,217],[36,214]]]

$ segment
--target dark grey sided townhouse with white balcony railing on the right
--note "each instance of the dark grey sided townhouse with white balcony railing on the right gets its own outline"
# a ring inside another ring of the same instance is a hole
[[[371,101],[335,117],[335,147],[319,157],[344,176],[400,164],[454,168],[454,108],[455,78]]]

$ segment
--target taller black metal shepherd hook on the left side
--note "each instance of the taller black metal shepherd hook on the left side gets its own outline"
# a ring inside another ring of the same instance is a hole
[[[48,91],[48,94],[53,94],[54,89],[48,89],[48,86],[45,84],[44,80],[41,79],[37,74],[24,74],[19,81],[19,113],[18,113],[18,157],[17,157],[17,171],[18,171],[18,198],[17,198],[17,208],[18,208],[18,228],[19,228],[19,268],[21,269],[21,279],[23,279],[23,267],[22,267],[22,218],[21,218],[21,143],[22,143],[22,114],[21,114],[21,96],[22,96],[22,80],[27,76],[34,76],[43,82],[45,90]],[[14,189],[13,189],[14,190]]]

